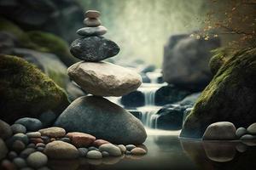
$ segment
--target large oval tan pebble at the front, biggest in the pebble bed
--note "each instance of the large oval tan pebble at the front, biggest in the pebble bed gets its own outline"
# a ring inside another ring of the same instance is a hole
[[[46,144],[44,153],[53,159],[75,159],[79,157],[79,150],[72,144],[62,141],[54,141]]]

